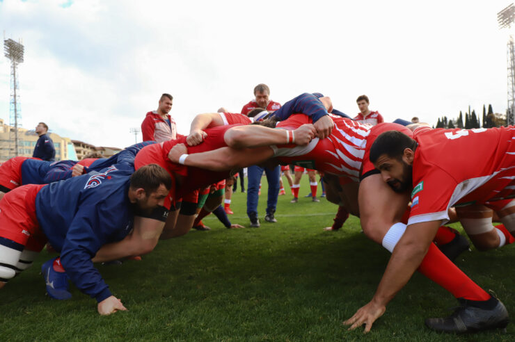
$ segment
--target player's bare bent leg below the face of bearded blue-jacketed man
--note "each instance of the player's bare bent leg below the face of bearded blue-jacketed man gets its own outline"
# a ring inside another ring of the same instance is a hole
[[[172,213],[168,215],[170,217]],[[131,234],[116,243],[103,245],[97,251],[93,262],[105,262],[125,257],[147,254],[157,245],[163,231],[164,222],[151,218],[134,218],[134,228]]]

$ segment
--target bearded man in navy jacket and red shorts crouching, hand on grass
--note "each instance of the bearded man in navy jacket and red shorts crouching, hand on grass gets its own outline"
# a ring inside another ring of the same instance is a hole
[[[0,201],[0,288],[26,269],[49,241],[61,252],[75,286],[97,300],[100,314],[125,310],[91,259],[102,245],[129,234],[134,215],[152,217],[172,187],[170,175],[158,165],[133,172],[132,165],[122,163],[7,193]]]

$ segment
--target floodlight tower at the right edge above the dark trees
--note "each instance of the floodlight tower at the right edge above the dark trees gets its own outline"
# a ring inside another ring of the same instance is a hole
[[[499,29],[511,29],[515,22],[515,6],[510,3],[507,8],[497,13]],[[515,124],[515,43],[510,34],[507,42],[508,61],[508,110],[506,113],[507,125]]]

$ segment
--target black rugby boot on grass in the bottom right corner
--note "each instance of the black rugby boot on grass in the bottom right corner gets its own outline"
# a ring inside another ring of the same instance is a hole
[[[458,298],[460,306],[445,318],[427,318],[425,324],[437,332],[480,332],[488,329],[505,329],[509,323],[508,311],[500,300],[490,298],[482,307],[476,301]],[[481,303],[481,302],[479,302]]]

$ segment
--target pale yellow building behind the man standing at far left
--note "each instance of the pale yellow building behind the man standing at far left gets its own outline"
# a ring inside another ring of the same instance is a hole
[[[14,129],[14,127],[5,124],[3,119],[0,119],[0,163],[15,155],[14,144],[10,143],[9,136],[10,131]],[[66,159],[77,160],[74,149],[70,148],[73,147],[70,138],[63,138],[56,133],[48,133],[48,135],[54,141],[56,161]],[[18,156],[31,157],[38,138],[39,136],[35,131],[18,127]]]

